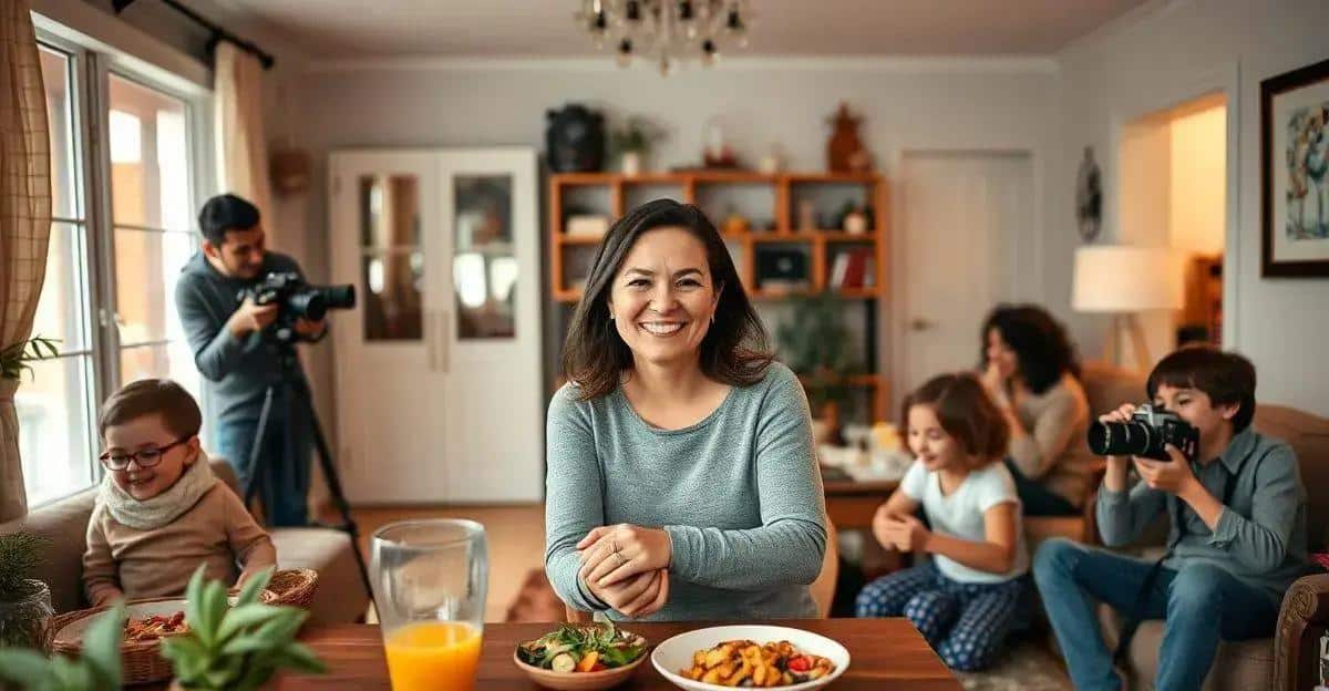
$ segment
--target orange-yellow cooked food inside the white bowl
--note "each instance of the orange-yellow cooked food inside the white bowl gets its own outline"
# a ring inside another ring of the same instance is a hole
[[[820,679],[835,671],[835,663],[820,655],[800,652],[788,641],[758,644],[752,641],[726,641],[692,654],[692,667],[679,674],[707,684],[775,687]]]

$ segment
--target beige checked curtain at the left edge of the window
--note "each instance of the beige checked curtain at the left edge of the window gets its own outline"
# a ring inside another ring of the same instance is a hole
[[[32,335],[51,239],[51,140],[28,0],[0,0],[0,348]],[[27,513],[20,380],[0,377],[0,522]]]

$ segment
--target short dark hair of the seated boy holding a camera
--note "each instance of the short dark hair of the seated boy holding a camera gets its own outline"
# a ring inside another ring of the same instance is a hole
[[[1159,387],[1200,389],[1212,405],[1236,405],[1232,433],[1241,432],[1255,417],[1255,365],[1235,353],[1213,346],[1185,346],[1159,360],[1150,372],[1146,393],[1150,400]]]

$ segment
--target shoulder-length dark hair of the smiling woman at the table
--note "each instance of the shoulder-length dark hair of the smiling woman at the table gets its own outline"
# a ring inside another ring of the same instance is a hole
[[[720,294],[715,322],[702,339],[702,372],[715,381],[746,387],[760,381],[775,359],[766,327],[743,291],[743,282],[719,231],[700,209],[672,199],[655,199],[619,218],[609,229],[591,262],[586,292],[573,312],[563,342],[563,375],[581,387],[581,400],[614,391],[623,369],[633,364],[633,351],[609,319],[609,296],[614,276],[637,239],[659,227],[682,227],[706,246],[711,282]]]

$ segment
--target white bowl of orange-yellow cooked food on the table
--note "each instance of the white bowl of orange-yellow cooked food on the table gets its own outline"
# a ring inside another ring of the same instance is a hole
[[[651,664],[688,691],[738,684],[805,691],[849,668],[849,651],[824,635],[787,626],[714,626],[675,635],[651,652]]]

